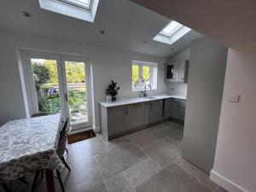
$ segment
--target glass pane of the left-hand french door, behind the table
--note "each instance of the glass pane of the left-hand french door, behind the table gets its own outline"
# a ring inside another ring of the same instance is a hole
[[[38,111],[61,113],[57,61],[31,59]]]

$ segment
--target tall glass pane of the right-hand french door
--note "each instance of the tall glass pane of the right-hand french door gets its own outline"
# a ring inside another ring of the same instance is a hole
[[[88,121],[84,62],[65,61],[71,125]]]

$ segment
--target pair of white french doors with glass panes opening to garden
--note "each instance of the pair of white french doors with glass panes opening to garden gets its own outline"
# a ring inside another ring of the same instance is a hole
[[[61,113],[73,130],[91,126],[89,60],[23,51],[22,56],[30,114]]]

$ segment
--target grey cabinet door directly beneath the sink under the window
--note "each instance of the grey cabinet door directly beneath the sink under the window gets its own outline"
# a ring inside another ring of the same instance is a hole
[[[148,123],[163,119],[163,100],[149,102]]]

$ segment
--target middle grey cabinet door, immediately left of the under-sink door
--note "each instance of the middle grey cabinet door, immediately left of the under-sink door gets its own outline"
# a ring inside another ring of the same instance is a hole
[[[145,105],[143,102],[128,105],[127,108],[127,130],[145,124]]]

